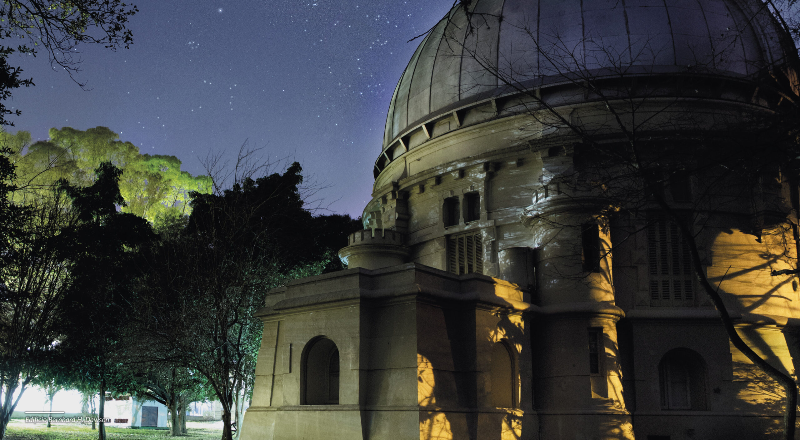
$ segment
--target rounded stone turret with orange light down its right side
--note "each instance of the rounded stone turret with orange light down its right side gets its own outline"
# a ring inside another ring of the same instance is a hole
[[[538,247],[534,402],[542,438],[633,438],[622,398],[610,235],[598,199],[560,191],[522,214]]]

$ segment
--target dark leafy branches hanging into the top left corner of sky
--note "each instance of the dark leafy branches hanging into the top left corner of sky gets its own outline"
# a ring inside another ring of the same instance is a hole
[[[79,59],[74,58],[76,47],[83,43],[102,44],[111,50],[128,47],[133,34],[126,28],[128,19],[136,14],[136,6],[120,0],[10,0],[0,6],[0,38],[25,40],[14,48],[0,46],[0,125],[14,125],[6,116],[20,114],[5,106],[12,90],[33,86],[32,79],[20,79],[22,69],[8,64],[11,54],[36,55],[46,50],[50,62],[64,68],[72,77],[78,72]],[[80,83],[79,83],[80,84]],[[83,86],[81,84],[81,86]]]

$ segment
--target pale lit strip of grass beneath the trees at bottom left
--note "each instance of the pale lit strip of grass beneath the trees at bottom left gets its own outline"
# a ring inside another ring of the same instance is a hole
[[[53,423],[47,428],[47,423],[26,423],[24,419],[12,418],[6,429],[8,439],[92,439],[98,438],[98,431],[92,430],[91,425],[80,423]],[[182,438],[221,438],[222,422],[186,422],[189,434]],[[170,430],[131,430],[130,428],[113,428],[106,426],[106,436],[109,439],[122,438],[126,440],[145,440],[146,438],[172,438]]]

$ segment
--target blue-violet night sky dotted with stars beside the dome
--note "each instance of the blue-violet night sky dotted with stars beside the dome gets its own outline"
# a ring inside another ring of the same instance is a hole
[[[370,200],[386,110],[420,39],[451,0],[134,0],[130,49],[79,46],[82,90],[45,54],[11,58],[36,86],[14,90],[10,131],[107,126],[142,153],[205,174],[245,141],[297,160],[326,186],[320,214],[358,217]]]

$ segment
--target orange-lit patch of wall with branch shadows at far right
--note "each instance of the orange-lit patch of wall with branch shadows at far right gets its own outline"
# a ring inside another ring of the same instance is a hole
[[[794,266],[794,245],[790,244],[793,238],[790,230],[782,226],[762,233],[758,241],[761,246],[755,248],[754,238],[739,230],[717,234],[710,247],[714,265],[707,266],[708,280],[712,286],[718,286],[719,294],[731,313],[762,314],[764,324],[779,325],[775,320],[778,318],[774,319],[770,314],[792,317],[791,309],[797,307],[794,302],[798,299],[798,278],[771,276],[770,272]],[[800,335],[794,333],[790,326],[780,333],[759,332],[754,327],[738,328],[738,333],[748,346],[772,366],[797,379],[795,372],[800,362]],[[733,410],[773,415],[766,434],[781,435],[782,415],[785,413],[782,387],[757,366],[746,361],[738,350],[731,347],[731,351],[734,354],[733,385],[736,394]]]

